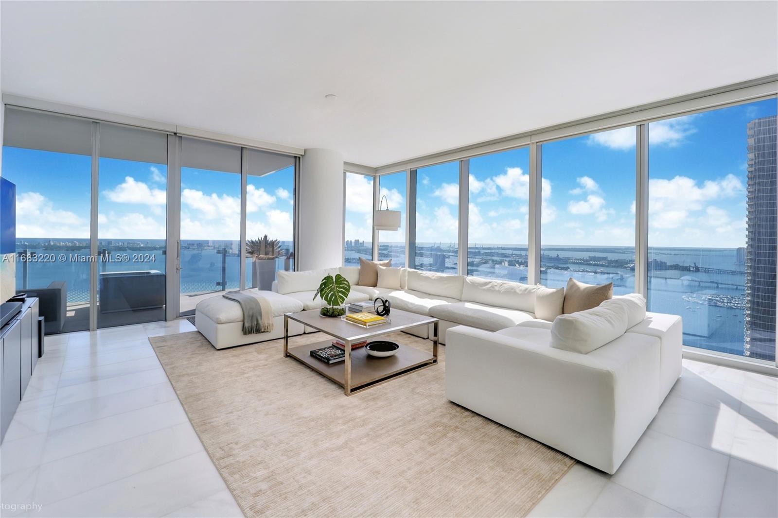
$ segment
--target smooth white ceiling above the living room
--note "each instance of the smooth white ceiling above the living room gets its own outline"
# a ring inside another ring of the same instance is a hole
[[[2,2],[5,93],[368,166],[776,73],[776,2]]]

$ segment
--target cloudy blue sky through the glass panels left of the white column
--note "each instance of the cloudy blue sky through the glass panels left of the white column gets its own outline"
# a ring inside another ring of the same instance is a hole
[[[89,237],[91,159],[5,148],[3,176],[17,185],[19,238]],[[293,167],[247,180],[247,236],[291,240]],[[100,239],[164,239],[166,166],[100,159]],[[240,238],[240,175],[181,170],[181,237]]]

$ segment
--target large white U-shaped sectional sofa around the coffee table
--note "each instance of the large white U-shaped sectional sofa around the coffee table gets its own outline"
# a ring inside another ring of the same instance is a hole
[[[222,297],[198,304],[196,325],[216,348],[280,338],[283,314],[321,307],[314,293],[336,273],[352,284],[347,303],[382,297],[440,320],[450,401],[608,473],[681,374],[681,318],[647,313],[640,296],[562,315],[563,289],[408,268],[399,285],[374,287],[358,285],[359,268],[279,272],[272,292],[258,292],[273,307],[271,333],[242,335],[240,306]],[[408,332],[430,336],[429,326]]]

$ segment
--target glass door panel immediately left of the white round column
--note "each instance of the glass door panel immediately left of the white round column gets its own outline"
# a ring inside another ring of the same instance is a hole
[[[294,270],[292,156],[246,153],[246,287],[269,290],[275,272]]]

